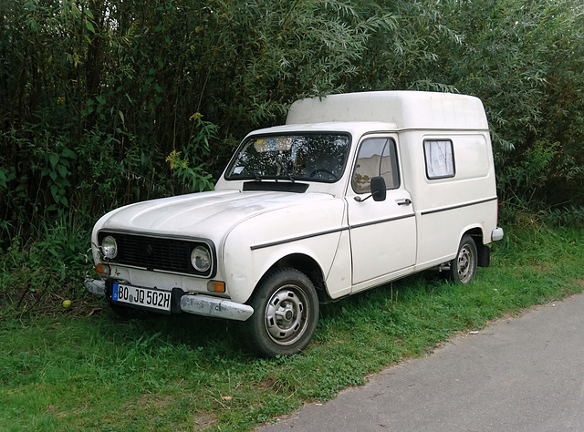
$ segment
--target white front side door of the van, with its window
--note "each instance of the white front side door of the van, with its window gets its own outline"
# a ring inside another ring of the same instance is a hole
[[[384,201],[369,198],[370,179],[376,176],[386,183]],[[392,273],[407,273],[416,258],[414,203],[403,185],[394,137],[361,141],[347,201],[353,291],[382,283]]]

